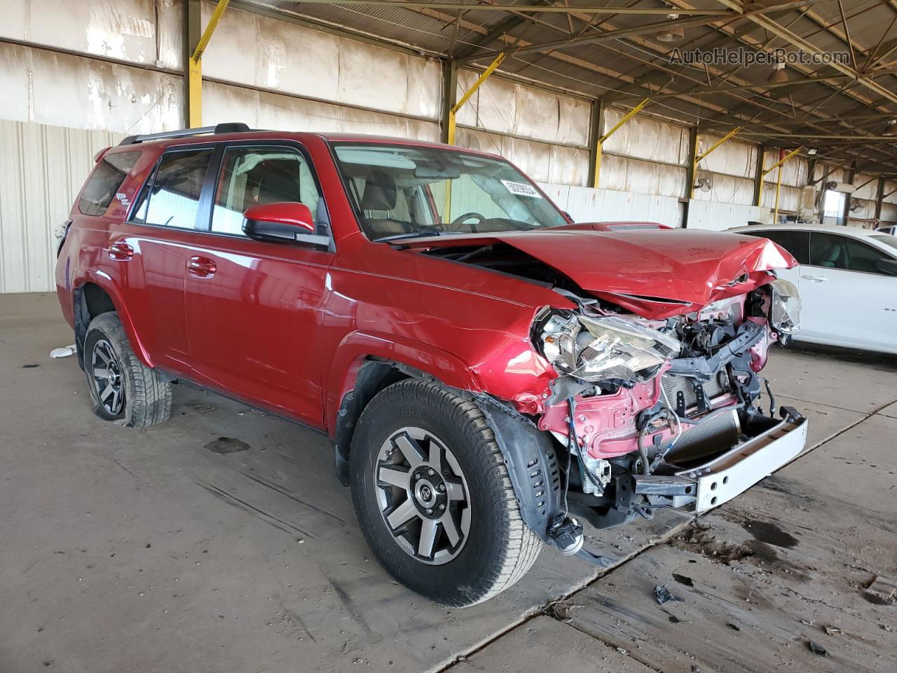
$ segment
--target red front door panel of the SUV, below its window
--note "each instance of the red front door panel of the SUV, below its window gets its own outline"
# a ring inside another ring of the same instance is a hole
[[[320,426],[317,339],[331,255],[195,236],[187,273],[181,273],[197,382]],[[204,270],[195,271],[194,259],[205,260]]]

